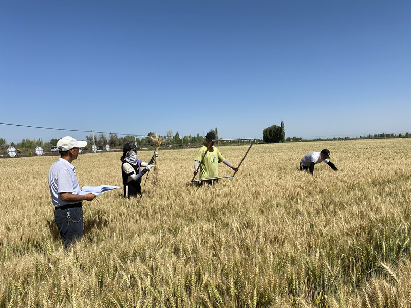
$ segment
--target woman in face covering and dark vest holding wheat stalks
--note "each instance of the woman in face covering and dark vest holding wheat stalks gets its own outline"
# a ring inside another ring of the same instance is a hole
[[[150,162],[145,163],[137,159],[137,147],[134,143],[127,143],[123,147],[123,155],[120,160],[121,174],[123,176],[124,197],[130,198],[133,196],[141,196],[141,177],[153,168],[153,160],[158,157],[158,152],[155,152]],[[141,167],[145,169],[141,170]]]

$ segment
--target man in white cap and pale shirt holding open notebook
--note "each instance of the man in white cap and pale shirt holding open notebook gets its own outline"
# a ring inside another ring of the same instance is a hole
[[[51,200],[54,205],[54,220],[64,247],[83,237],[82,201],[91,201],[94,194],[84,194],[80,190],[76,177],[76,167],[71,162],[77,159],[79,149],[85,147],[87,141],[77,141],[66,136],[57,142],[60,158],[51,165],[48,173]]]

